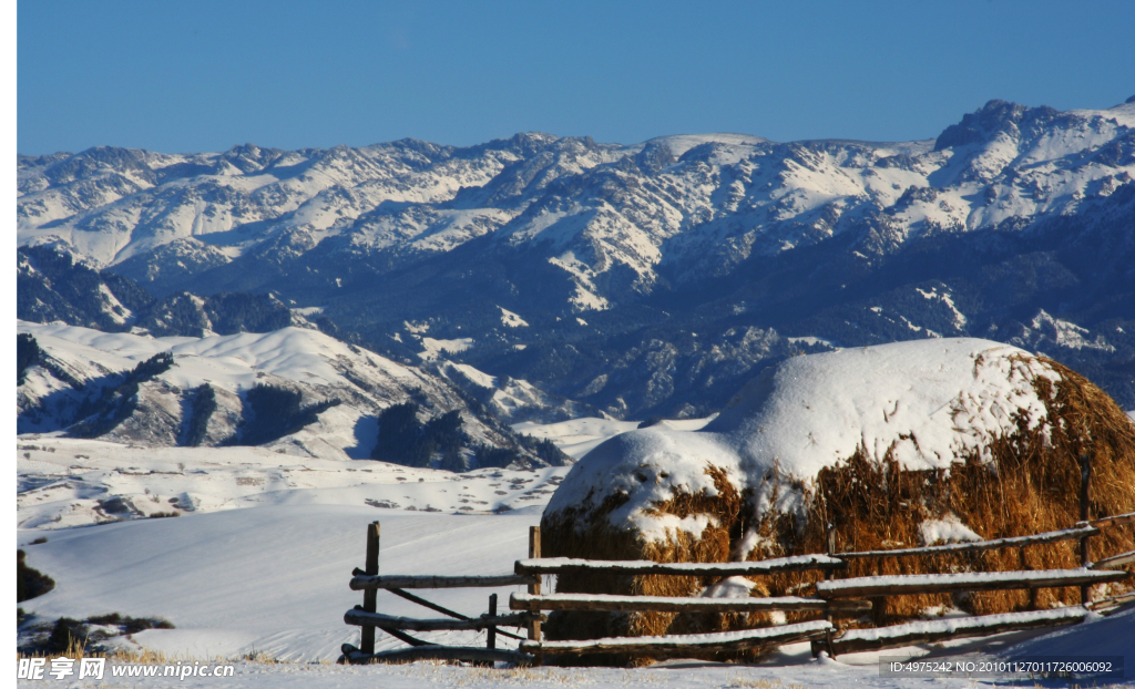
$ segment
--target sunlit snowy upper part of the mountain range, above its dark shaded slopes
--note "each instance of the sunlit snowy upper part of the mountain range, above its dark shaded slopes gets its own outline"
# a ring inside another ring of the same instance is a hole
[[[101,267],[174,244],[125,267],[155,282],[165,264],[202,272],[280,235],[300,254],[343,235],[338,251],[397,255],[493,234],[543,245],[541,259],[571,276],[575,308],[594,310],[621,297],[599,278],[620,269],[646,293],[661,264],[692,279],[844,233],[869,255],[1075,213],[1132,182],[1133,127],[1135,103],[1060,112],[991,101],[936,141],[893,144],[518,135],[470,149],[99,148],[19,159],[19,237],[61,237]]]

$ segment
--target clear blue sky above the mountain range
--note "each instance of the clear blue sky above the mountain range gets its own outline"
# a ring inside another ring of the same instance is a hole
[[[1135,2],[18,5],[17,149],[932,138],[1135,94]]]

